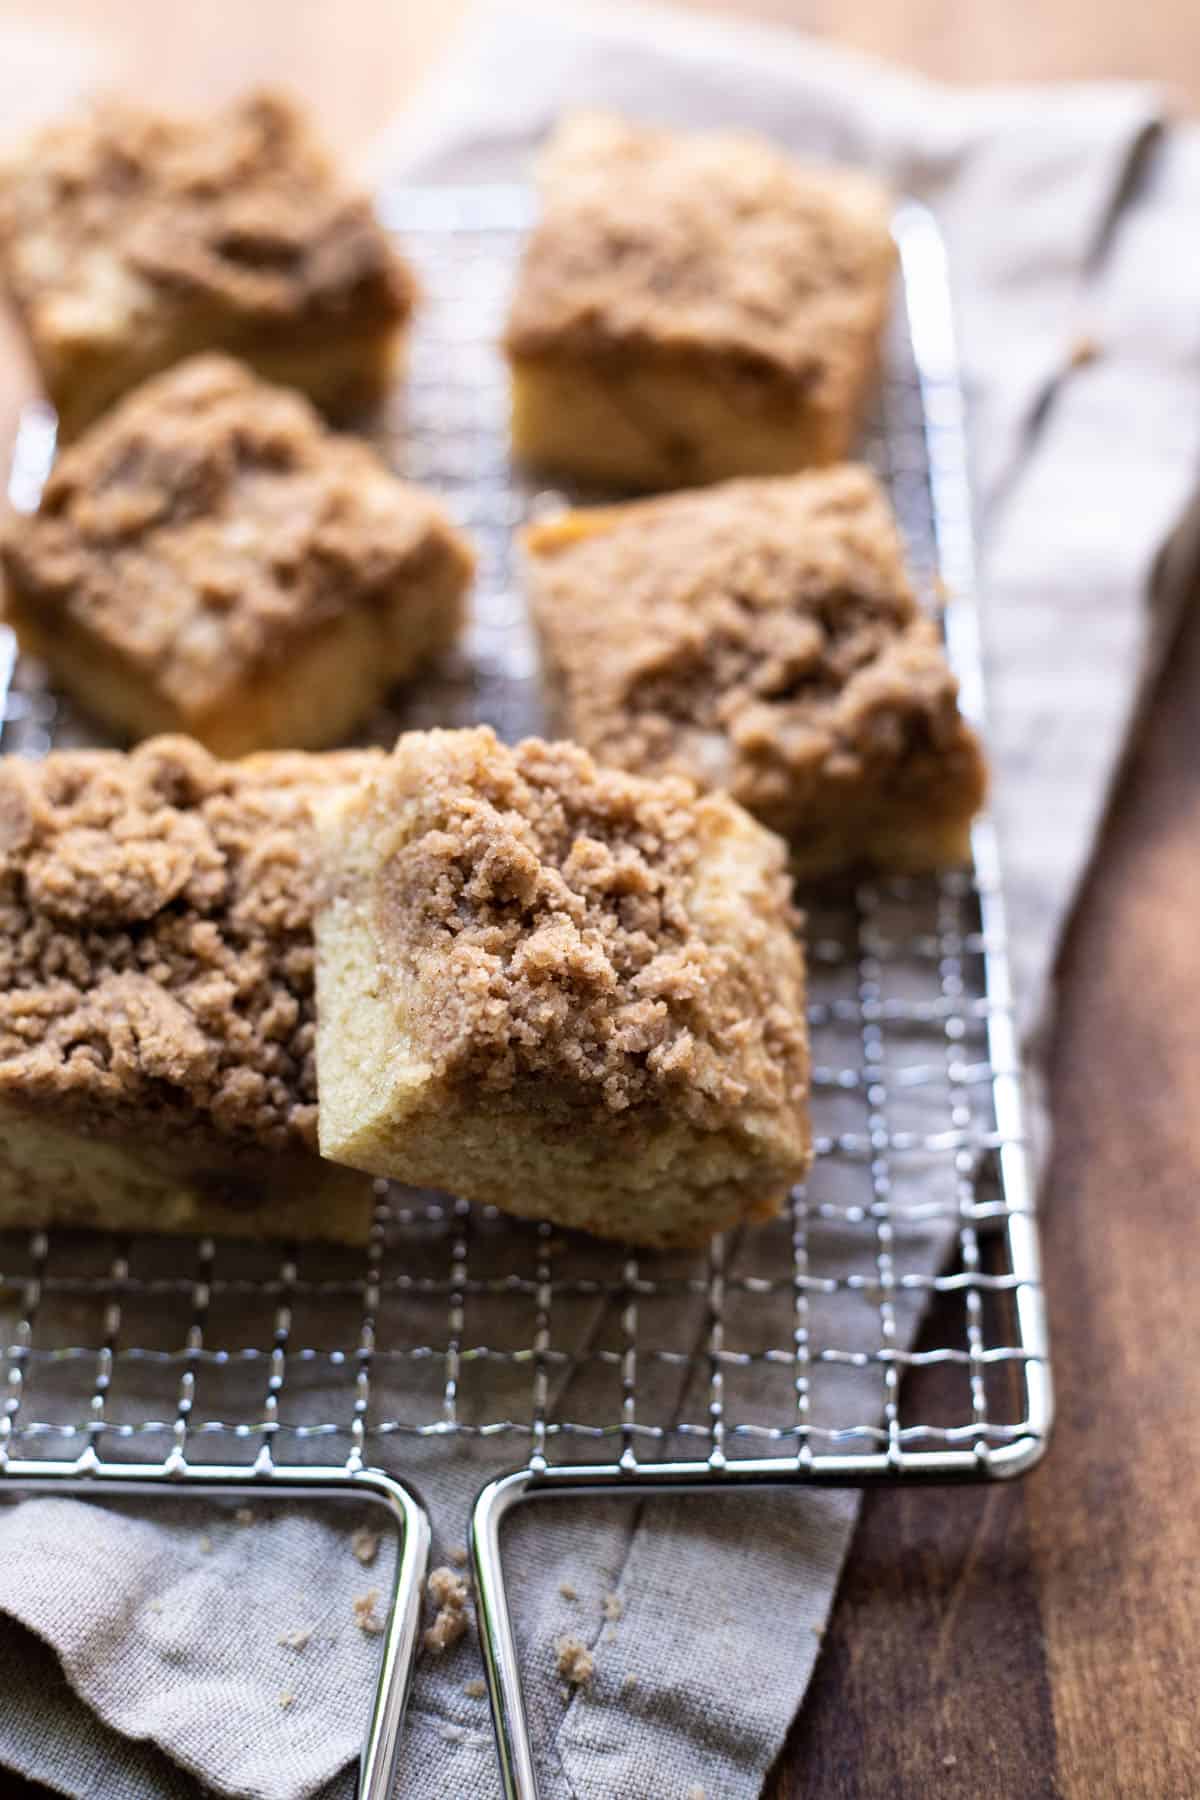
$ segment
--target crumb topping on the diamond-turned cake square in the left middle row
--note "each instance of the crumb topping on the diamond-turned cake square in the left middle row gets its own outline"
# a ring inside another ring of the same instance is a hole
[[[36,625],[85,628],[184,718],[398,581],[471,567],[435,500],[228,356],[169,369],[65,450],[0,560]]]

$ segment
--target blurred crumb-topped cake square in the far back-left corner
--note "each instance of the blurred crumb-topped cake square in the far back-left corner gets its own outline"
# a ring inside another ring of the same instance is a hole
[[[0,279],[74,437],[201,349],[347,416],[385,387],[416,284],[304,113],[255,92],[212,117],[104,103],[0,167]]]

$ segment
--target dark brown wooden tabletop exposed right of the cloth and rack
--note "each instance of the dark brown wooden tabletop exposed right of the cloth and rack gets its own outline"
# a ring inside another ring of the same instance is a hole
[[[1051,1454],[986,1496],[867,1496],[772,1800],[1200,1791],[1195,612],[1061,961]]]

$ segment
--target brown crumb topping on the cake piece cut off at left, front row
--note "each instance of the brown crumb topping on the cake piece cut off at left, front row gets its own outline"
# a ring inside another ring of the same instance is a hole
[[[0,1094],[317,1147],[311,799],[371,752],[0,760]]]

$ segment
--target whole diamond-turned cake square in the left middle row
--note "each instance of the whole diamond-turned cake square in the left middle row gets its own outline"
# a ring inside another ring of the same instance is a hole
[[[23,648],[97,720],[241,756],[344,742],[453,643],[473,556],[300,394],[196,356],[63,452],[0,567]]]

